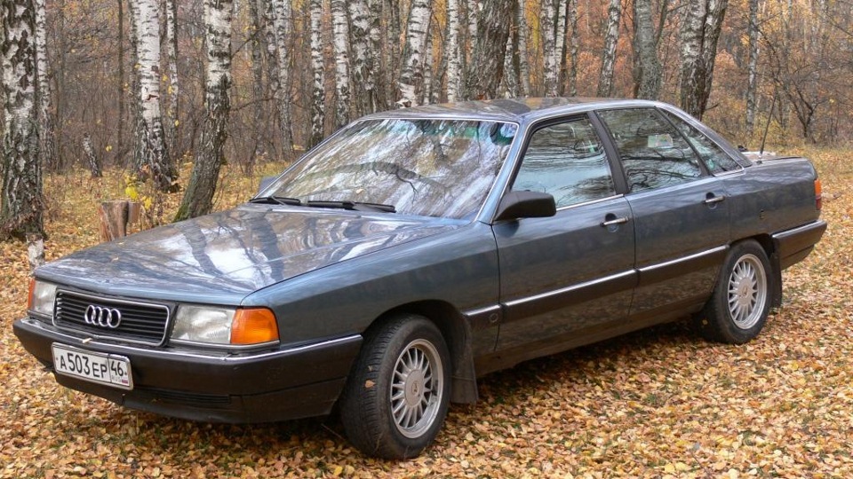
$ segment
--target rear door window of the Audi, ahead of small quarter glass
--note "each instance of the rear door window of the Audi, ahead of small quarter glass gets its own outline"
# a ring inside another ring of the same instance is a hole
[[[605,110],[598,115],[613,137],[632,192],[703,175],[696,153],[657,109]]]

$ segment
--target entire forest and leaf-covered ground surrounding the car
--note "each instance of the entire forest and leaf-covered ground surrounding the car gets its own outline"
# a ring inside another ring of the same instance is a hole
[[[347,120],[424,102],[658,98],[808,155],[829,224],[755,341],[674,323],[490,374],[403,462],[334,418],[211,425],[64,389],[5,326],[0,477],[853,475],[851,19],[850,0],[0,1],[6,325],[44,232],[48,259],[97,243],[100,201],[152,224],[228,208]]]

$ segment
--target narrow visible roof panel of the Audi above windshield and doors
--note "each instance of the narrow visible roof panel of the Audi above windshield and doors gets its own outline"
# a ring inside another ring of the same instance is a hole
[[[493,122],[530,122],[554,114],[595,110],[603,107],[666,106],[636,99],[619,98],[498,98],[412,106],[365,116],[379,118],[464,118]]]

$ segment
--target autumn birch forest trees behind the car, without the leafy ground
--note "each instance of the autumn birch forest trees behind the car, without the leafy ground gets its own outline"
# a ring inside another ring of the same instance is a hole
[[[0,233],[33,241],[44,172],[123,169],[159,224],[209,212],[226,162],[248,174],[292,161],[357,116],[423,103],[651,98],[753,149],[853,138],[850,0],[4,0],[2,12]]]

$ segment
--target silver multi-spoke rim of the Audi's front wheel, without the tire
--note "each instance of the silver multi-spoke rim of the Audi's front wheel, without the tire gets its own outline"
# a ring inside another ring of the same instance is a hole
[[[442,402],[443,365],[431,342],[415,340],[403,349],[391,381],[391,414],[403,436],[426,433]]]

